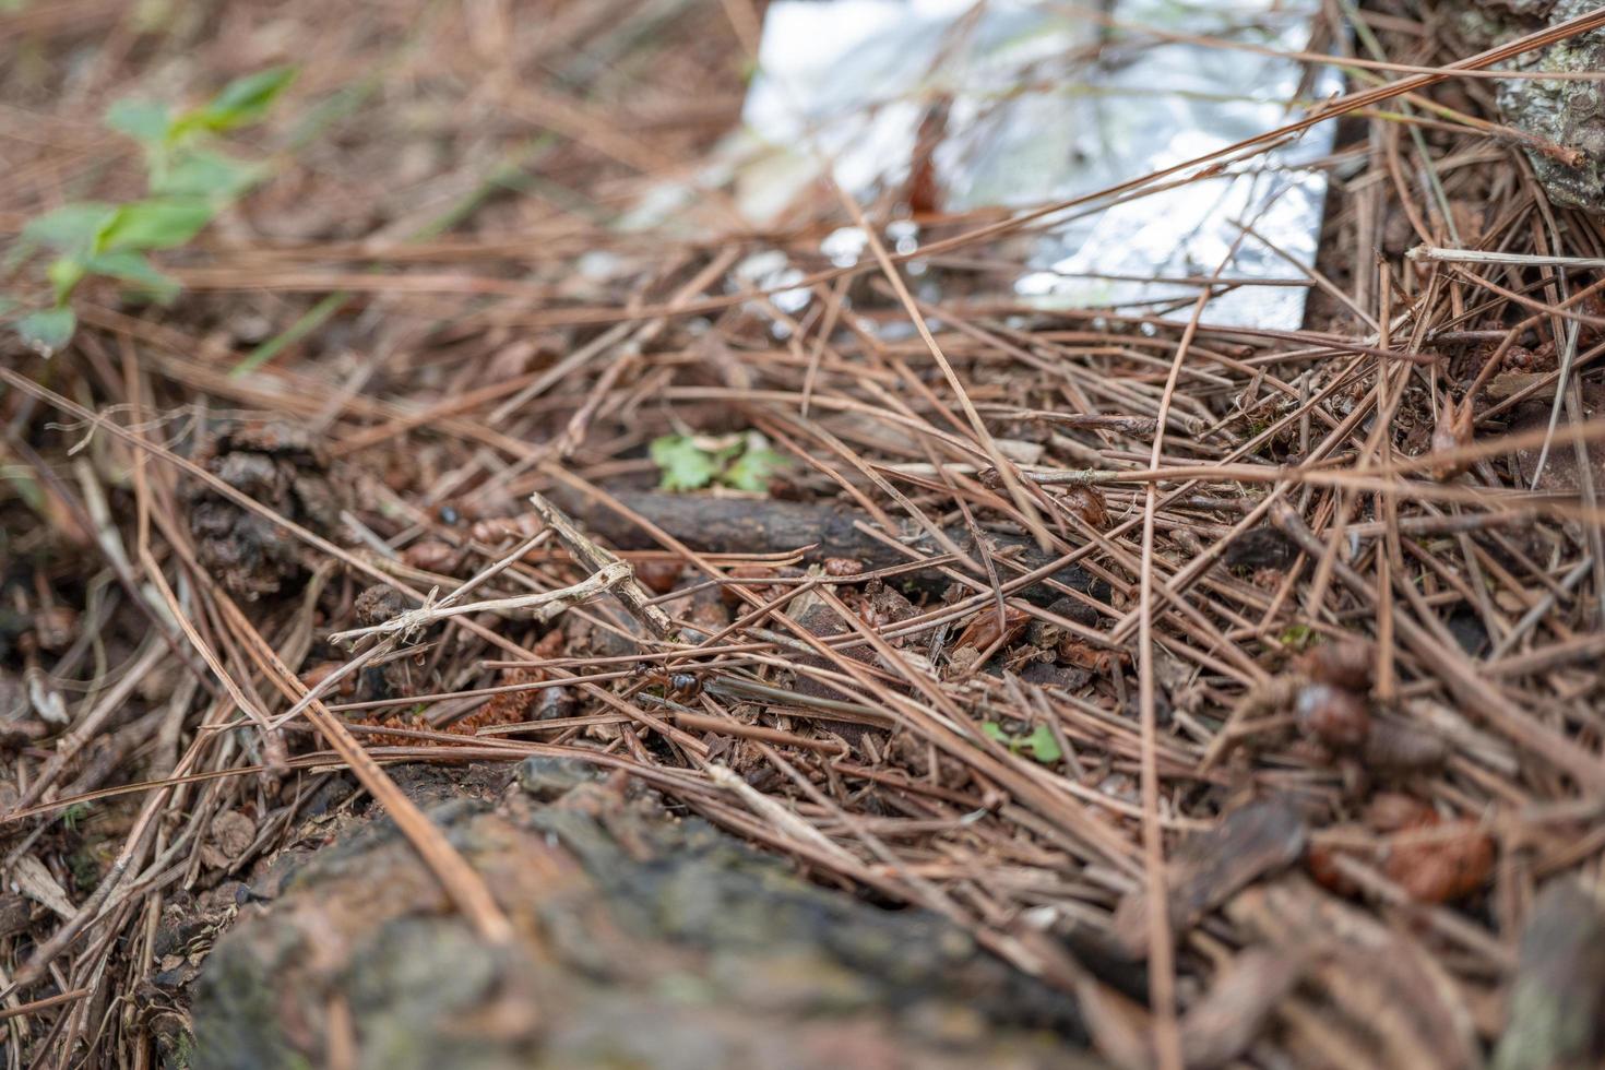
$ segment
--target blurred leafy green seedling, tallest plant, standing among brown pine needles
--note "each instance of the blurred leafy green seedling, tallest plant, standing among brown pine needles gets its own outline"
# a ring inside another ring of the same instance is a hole
[[[11,263],[51,249],[45,268],[53,303],[24,313],[13,324],[22,340],[50,356],[72,338],[77,316],[72,290],[90,276],[170,302],[178,282],[151,265],[146,253],[188,244],[218,212],[262,181],[265,168],[210,146],[220,133],[239,130],[266,116],[273,99],[295,77],[292,67],[271,67],[236,79],[205,104],[173,112],[152,101],[122,99],[106,111],[106,125],[140,143],[144,154],[146,196],[125,204],[74,201],[40,215],[22,228]],[[16,302],[6,302],[16,308]],[[5,308],[0,308],[5,311]]]

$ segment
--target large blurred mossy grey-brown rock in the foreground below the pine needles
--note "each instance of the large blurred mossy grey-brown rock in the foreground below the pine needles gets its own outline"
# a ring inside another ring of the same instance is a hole
[[[205,959],[193,1065],[327,1065],[342,1043],[384,1070],[1098,1065],[1069,996],[945,919],[576,794],[429,812],[514,922],[507,946],[448,910],[388,820],[315,852]]]

